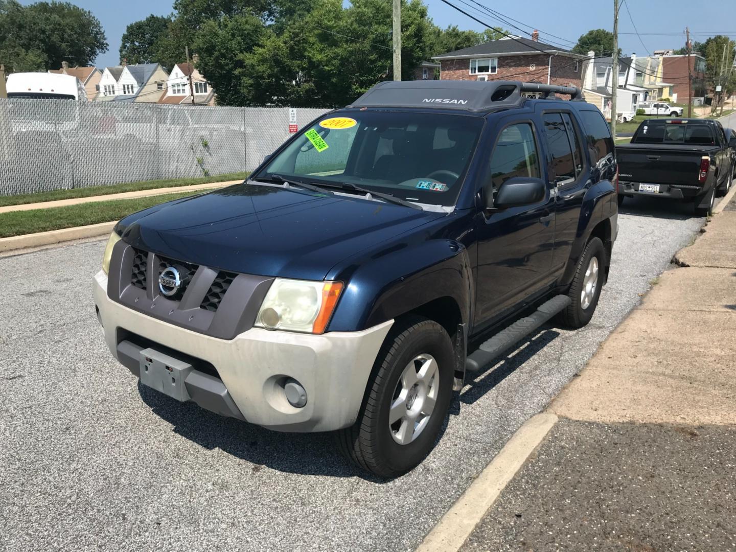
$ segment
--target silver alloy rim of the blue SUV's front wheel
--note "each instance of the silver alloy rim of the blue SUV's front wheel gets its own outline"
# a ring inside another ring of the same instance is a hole
[[[389,431],[399,445],[408,445],[427,427],[439,391],[437,361],[421,353],[406,365],[389,408]]]

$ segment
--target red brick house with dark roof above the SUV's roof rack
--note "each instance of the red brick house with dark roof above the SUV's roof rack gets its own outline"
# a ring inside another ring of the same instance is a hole
[[[432,57],[441,64],[440,79],[520,80],[581,88],[587,56],[528,38],[502,38]]]

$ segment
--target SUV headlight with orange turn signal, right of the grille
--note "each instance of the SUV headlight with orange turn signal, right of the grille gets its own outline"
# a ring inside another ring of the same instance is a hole
[[[342,282],[276,278],[255,325],[266,330],[325,333],[341,291]]]

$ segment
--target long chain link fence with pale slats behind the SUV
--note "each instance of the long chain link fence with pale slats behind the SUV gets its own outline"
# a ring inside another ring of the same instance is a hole
[[[298,108],[298,127],[327,111]],[[289,107],[0,99],[0,195],[251,171],[289,122]]]

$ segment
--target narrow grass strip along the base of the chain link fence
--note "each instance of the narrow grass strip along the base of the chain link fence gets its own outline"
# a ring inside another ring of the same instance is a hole
[[[210,177],[142,180],[141,182],[127,182],[108,186],[89,186],[87,188],[74,188],[73,190],[40,191],[36,194],[0,196],[0,207],[4,207],[5,205],[25,205],[26,203],[56,201],[57,199],[73,199],[75,197],[107,196],[109,194],[121,194],[125,191],[155,190],[156,188],[174,188],[194,184],[227,182],[227,180],[244,180],[248,174],[247,172],[233,172]]]

